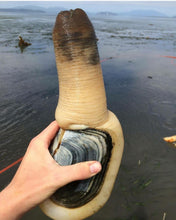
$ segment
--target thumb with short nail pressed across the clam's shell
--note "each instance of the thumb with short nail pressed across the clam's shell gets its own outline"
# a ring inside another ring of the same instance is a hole
[[[88,161],[60,166],[59,187],[62,187],[75,180],[88,179],[101,171],[101,164],[98,161]]]

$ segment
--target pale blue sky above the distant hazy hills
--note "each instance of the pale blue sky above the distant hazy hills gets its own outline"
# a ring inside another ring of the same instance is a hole
[[[36,5],[41,7],[82,8],[88,12],[127,12],[131,10],[157,10],[176,16],[176,1],[0,1],[0,8]]]

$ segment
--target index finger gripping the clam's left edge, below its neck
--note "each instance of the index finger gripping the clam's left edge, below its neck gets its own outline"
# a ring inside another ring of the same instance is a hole
[[[59,125],[56,121],[51,122],[37,137],[46,142],[49,147],[50,142],[56,136],[59,130]]]

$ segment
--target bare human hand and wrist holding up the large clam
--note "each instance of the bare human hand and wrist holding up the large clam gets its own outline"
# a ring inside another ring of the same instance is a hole
[[[0,193],[0,219],[19,219],[58,188],[75,180],[90,178],[101,170],[100,163],[96,161],[60,166],[48,150],[58,129],[54,121],[30,142],[14,178]]]

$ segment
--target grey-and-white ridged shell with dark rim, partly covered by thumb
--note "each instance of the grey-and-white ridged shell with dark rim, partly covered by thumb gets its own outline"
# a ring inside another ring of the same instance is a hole
[[[94,198],[101,189],[111,149],[112,140],[107,132],[96,129],[60,129],[50,146],[53,158],[61,166],[97,160],[102,164],[102,171],[90,179],[75,181],[58,189],[51,200],[60,206],[76,208]]]

